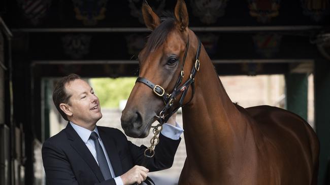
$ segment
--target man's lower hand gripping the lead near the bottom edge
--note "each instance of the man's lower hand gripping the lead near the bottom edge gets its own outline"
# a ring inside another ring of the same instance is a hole
[[[147,173],[149,170],[143,166],[135,165],[133,168],[128,170],[126,173],[120,176],[121,180],[123,181],[124,185],[130,185],[135,182],[140,184],[147,178]]]

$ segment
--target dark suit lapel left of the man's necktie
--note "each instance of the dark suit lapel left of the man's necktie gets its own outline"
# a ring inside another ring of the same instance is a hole
[[[104,181],[104,177],[102,175],[100,167],[98,167],[93,155],[90,153],[87,146],[81,140],[80,136],[75,131],[75,129],[71,126],[70,123],[68,123],[67,127],[65,128],[65,131],[67,132],[70,145],[78,152],[78,154],[80,154],[80,156],[89,165],[89,167],[92,169],[93,173],[95,173],[97,179],[100,182]]]

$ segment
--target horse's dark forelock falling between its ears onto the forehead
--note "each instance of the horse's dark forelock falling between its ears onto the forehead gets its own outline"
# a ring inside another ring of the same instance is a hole
[[[146,52],[144,54],[145,57],[147,57],[151,52],[153,52],[161,44],[163,44],[169,32],[171,32],[172,29],[174,28],[175,25],[174,16],[168,13],[164,13],[164,17],[161,17],[160,21],[161,23],[148,36],[148,41],[146,44]]]

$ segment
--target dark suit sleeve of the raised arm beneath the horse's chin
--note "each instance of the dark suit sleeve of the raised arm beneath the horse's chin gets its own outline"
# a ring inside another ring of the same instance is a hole
[[[159,133],[159,143],[155,147],[155,155],[152,158],[145,158],[144,151],[146,146],[138,147],[128,141],[131,155],[136,165],[146,166],[150,171],[168,169],[173,165],[174,156],[180,144],[179,140],[172,140]]]

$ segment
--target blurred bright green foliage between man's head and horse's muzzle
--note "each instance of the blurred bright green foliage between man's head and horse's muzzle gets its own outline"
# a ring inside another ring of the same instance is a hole
[[[128,99],[136,79],[136,77],[91,78],[89,82],[100,99],[102,108],[118,108],[120,100]]]

